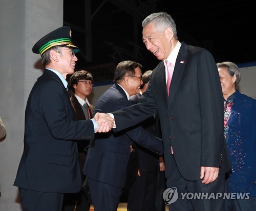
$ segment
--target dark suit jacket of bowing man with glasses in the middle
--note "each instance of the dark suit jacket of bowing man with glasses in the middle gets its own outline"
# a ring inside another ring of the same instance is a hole
[[[94,113],[111,113],[131,105],[123,89],[114,84],[97,101]],[[127,164],[130,157],[131,139],[155,151],[163,153],[162,141],[141,126],[126,129],[120,133],[97,134],[90,143],[83,172],[89,178],[124,187]]]

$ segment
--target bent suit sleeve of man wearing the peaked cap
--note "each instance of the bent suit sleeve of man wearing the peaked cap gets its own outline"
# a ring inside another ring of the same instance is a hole
[[[63,92],[57,82],[50,81],[47,85],[45,84],[38,95],[39,112],[56,139],[94,138],[94,127],[91,120],[73,121],[68,116],[68,113],[72,112],[71,104],[68,95]]]

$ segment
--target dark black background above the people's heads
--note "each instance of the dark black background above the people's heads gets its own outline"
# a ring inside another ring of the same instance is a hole
[[[166,11],[176,21],[178,38],[201,46],[216,62],[256,61],[255,1],[167,0],[64,0],[63,24],[72,29],[80,48],[77,69],[87,69],[96,82],[112,81],[114,68],[123,60],[134,60],[143,71],[159,61],[142,43],[142,20],[153,12]]]

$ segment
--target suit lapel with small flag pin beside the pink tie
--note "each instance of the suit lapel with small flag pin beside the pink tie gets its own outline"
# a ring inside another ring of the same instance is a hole
[[[182,74],[184,72],[186,63],[187,63],[187,47],[188,45],[185,43],[182,43],[179,54],[177,56],[176,62],[175,62],[175,68],[174,73],[172,77],[172,82],[170,83],[170,91],[169,91],[169,97],[168,97],[168,109],[170,108],[170,105],[172,105],[172,102],[174,100],[175,94],[177,92],[178,86],[180,84],[180,80],[182,77]]]

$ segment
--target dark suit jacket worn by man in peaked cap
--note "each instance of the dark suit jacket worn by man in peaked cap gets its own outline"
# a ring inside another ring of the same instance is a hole
[[[45,70],[28,98],[24,151],[14,186],[40,192],[73,193],[81,189],[77,143],[94,138],[91,120],[72,121],[66,88]]]

